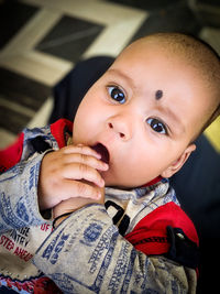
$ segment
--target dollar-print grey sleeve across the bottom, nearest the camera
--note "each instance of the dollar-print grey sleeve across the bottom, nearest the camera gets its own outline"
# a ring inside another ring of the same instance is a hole
[[[196,293],[196,273],[138,251],[101,205],[66,218],[43,242],[34,264],[64,293]]]

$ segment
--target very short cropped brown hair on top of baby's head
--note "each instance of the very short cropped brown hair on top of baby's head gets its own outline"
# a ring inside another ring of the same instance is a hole
[[[196,138],[200,135],[220,115],[220,57],[205,41],[183,33],[156,33],[143,37],[143,41],[158,41],[169,53],[183,55],[191,66],[199,70],[204,81],[213,89],[216,108],[206,120]]]

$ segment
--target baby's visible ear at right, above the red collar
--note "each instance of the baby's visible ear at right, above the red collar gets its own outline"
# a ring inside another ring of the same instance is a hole
[[[177,173],[182,166],[185,164],[185,162],[188,160],[189,155],[191,154],[193,151],[196,150],[195,144],[188,145],[185,151],[182,153],[182,155],[176,160],[172,165],[169,165],[162,174],[162,177],[170,177],[175,173]]]

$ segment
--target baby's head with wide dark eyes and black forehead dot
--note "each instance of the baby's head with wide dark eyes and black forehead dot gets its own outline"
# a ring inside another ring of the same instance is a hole
[[[193,37],[162,33],[128,46],[84,97],[74,143],[109,153],[108,186],[170,177],[220,112],[220,62]],[[102,148],[105,146],[105,148]]]

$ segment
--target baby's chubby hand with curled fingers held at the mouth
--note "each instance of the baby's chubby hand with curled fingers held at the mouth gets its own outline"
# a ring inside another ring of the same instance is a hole
[[[42,160],[38,178],[40,208],[52,208],[70,197],[99,199],[105,181],[98,171],[109,168],[100,157],[95,150],[84,145],[69,145],[47,153]]]

